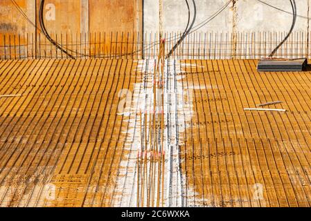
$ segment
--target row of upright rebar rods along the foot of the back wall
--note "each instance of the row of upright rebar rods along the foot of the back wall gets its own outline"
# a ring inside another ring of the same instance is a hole
[[[165,55],[180,32],[163,33]],[[286,32],[193,32],[179,44],[171,59],[261,59],[268,57]],[[159,34],[140,32],[51,33],[52,39],[77,59],[157,59]],[[292,32],[275,57],[311,56],[310,33]],[[42,34],[0,34],[0,59],[69,59]]]

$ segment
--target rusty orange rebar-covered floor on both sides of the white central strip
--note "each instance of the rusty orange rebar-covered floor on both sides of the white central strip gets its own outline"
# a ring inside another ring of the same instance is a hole
[[[257,62],[174,63],[192,111],[175,125],[182,199],[160,206],[311,205],[311,72]],[[135,126],[118,105],[147,63],[0,61],[0,206],[138,206]],[[273,101],[287,112],[244,111]]]

